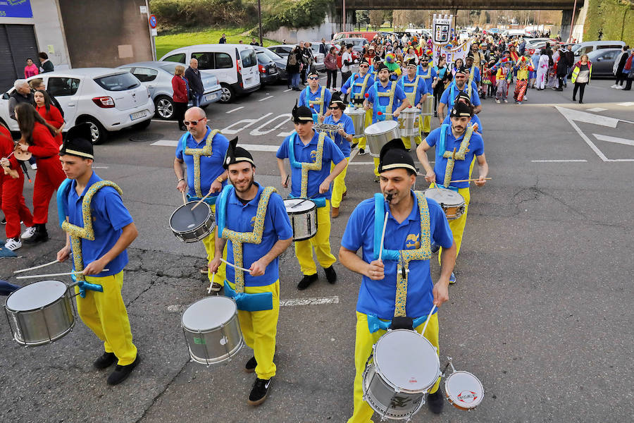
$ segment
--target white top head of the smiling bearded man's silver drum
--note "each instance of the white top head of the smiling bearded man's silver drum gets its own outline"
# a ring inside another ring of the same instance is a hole
[[[182,326],[190,331],[209,331],[227,323],[237,311],[235,301],[227,297],[203,298],[182,313]]]

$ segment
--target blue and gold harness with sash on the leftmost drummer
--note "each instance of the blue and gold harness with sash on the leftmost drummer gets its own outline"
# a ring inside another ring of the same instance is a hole
[[[73,264],[75,264],[75,271],[82,271],[84,269],[84,259],[82,257],[82,241],[80,238],[94,241],[92,213],[90,212],[92,197],[97,193],[97,191],[104,187],[114,188],[115,190],[117,190],[119,195],[123,195],[123,190],[121,190],[121,188],[119,188],[119,186],[116,183],[113,183],[111,180],[100,180],[99,182],[92,184],[90,188],[88,188],[88,191],[86,192],[86,194],[84,195],[84,199],[82,200],[82,216],[84,226],[81,227],[73,225],[66,218],[68,212],[66,210],[65,204],[66,202],[68,202],[68,192],[70,191],[72,182],[72,180],[66,179],[58,188],[58,213],[61,228],[66,231],[68,235],[70,235],[70,245],[72,245],[73,247]],[[104,292],[104,288],[102,288],[101,285],[86,282],[86,278],[82,274],[73,274],[70,277],[73,278],[73,281],[77,281],[80,289],[81,298],[86,298],[87,289]]]

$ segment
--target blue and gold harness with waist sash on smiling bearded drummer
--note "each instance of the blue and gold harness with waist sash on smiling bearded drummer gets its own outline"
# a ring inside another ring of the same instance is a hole
[[[237,232],[232,231],[225,226],[229,195],[234,189],[235,188],[230,185],[225,186],[223,192],[220,194],[220,198],[218,199],[216,207],[218,233],[220,233],[222,238],[225,240],[230,240],[233,245],[233,264],[244,267],[242,244],[249,243],[258,245],[262,242],[262,234],[264,233],[264,218],[266,217],[266,210],[268,209],[268,200],[271,197],[271,194],[273,194],[273,192],[277,192],[277,190],[273,187],[266,187],[262,191],[253,223],[253,231]],[[273,309],[272,293],[244,293],[244,271],[242,271],[242,269],[235,268],[234,275],[235,290],[232,290],[229,284],[225,283],[225,294],[228,297],[235,299],[238,309],[247,312],[259,312],[262,310]]]

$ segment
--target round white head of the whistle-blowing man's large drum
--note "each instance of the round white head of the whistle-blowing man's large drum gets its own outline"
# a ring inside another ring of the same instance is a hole
[[[385,381],[408,391],[422,391],[440,374],[440,360],[431,343],[406,329],[389,331],[375,346],[375,367]]]

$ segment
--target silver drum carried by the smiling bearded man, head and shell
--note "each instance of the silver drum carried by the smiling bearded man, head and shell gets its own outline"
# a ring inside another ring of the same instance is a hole
[[[207,297],[185,309],[180,318],[189,357],[201,364],[230,360],[242,347],[242,331],[235,301]]]

